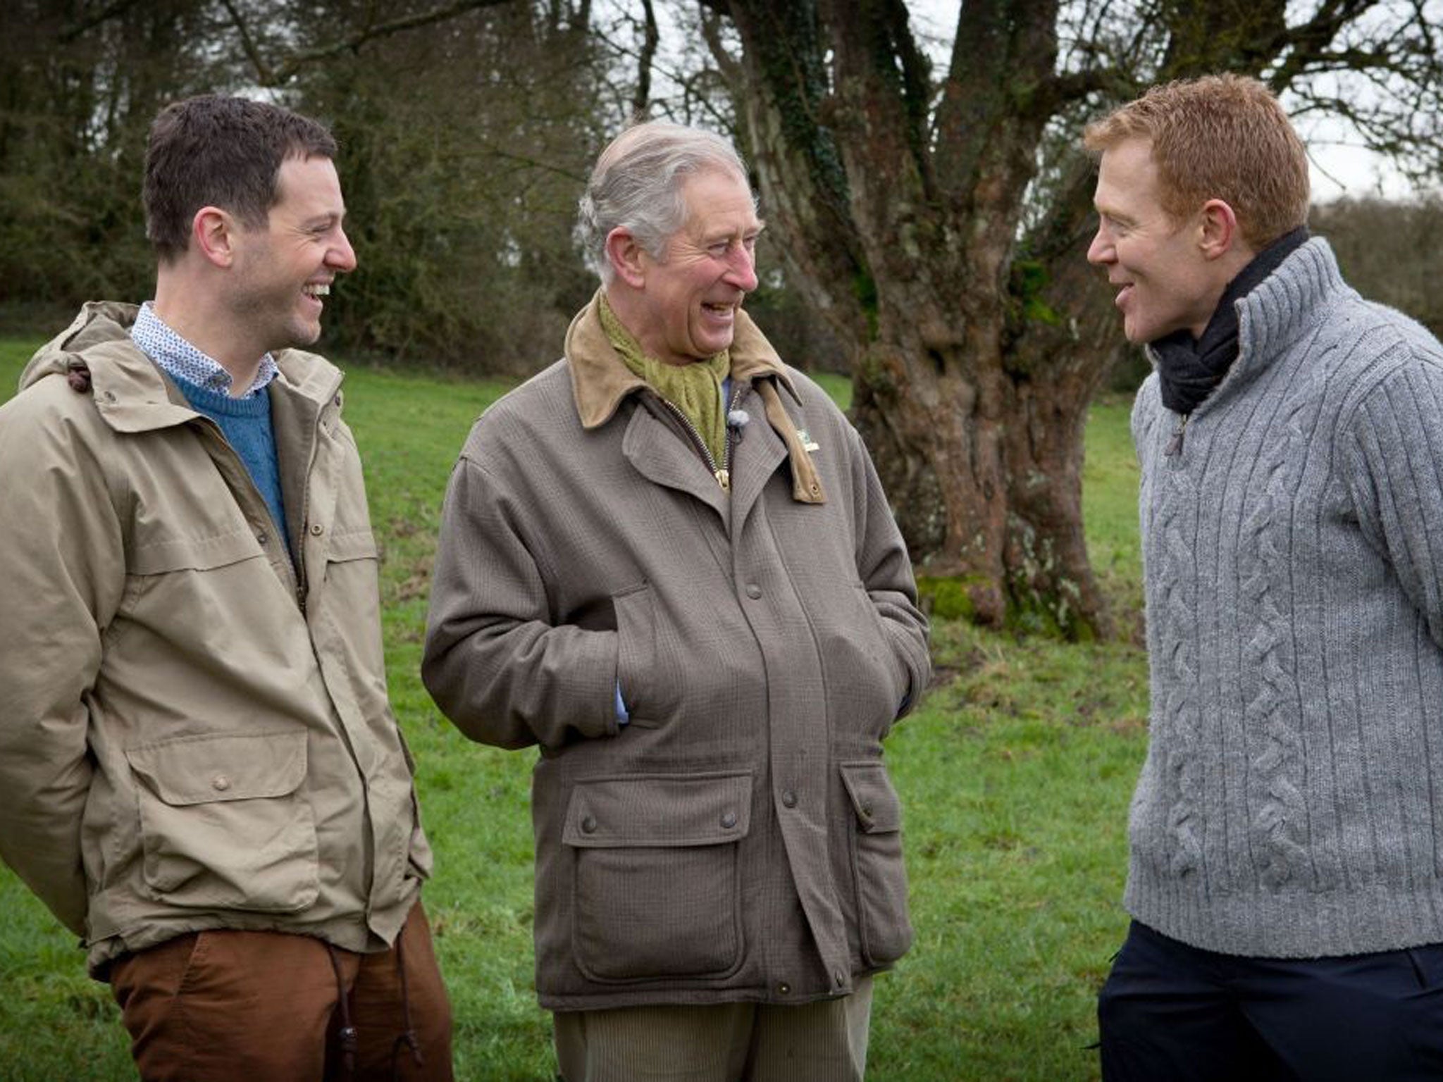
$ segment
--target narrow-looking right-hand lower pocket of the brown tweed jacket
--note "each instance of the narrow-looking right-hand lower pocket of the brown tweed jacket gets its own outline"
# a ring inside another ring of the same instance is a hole
[[[841,763],[841,780],[856,815],[851,876],[861,958],[867,965],[887,965],[912,945],[902,860],[902,802],[882,763]]]

